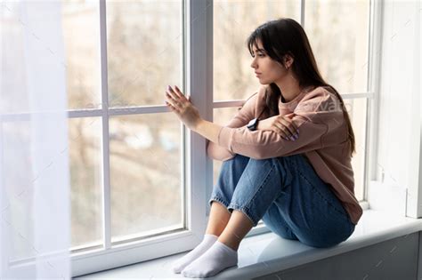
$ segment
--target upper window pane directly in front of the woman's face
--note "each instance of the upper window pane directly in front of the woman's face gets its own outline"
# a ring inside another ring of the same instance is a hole
[[[244,100],[259,88],[246,40],[280,17],[300,22],[300,1],[214,1],[214,100]]]

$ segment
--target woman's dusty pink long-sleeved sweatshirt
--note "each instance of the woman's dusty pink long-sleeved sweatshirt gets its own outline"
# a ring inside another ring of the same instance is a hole
[[[230,123],[222,127],[218,145],[207,140],[207,155],[225,161],[235,154],[265,159],[303,153],[321,180],[331,185],[353,224],[357,224],[362,209],[354,196],[347,124],[336,93],[329,87],[308,87],[294,100],[279,102],[280,115],[290,117],[299,130],[299,138],[293,141],[284,140],[277,132],[251,132],[246,126],[255,117],[260,120],[269,117],[262,113],[267,86],[251,95]]]

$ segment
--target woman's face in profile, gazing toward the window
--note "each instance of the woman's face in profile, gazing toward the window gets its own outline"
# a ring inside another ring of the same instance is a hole
[[[261,41],[257,41],[257,48],[253,46],[251,67],[255,69],[256,77],[260,84],[282,83],[288,71],[281,64],[272,60],[266,54]]]

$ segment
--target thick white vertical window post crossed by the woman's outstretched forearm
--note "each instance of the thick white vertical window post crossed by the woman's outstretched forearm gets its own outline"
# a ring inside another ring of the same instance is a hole
[[[204,119],[213,114],[213,1],[196,0],[187,3],[186,92]],[[186,130],[186,201],[191,231],[206,230],[207,196],[212,186],[212,162],[207,158],[206,139]]]

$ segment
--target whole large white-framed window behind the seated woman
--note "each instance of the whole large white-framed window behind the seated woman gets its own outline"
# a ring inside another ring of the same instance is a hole
[[[304,24],[322,76],[349,109],[355,191],[365,199],[369,0],[64,0],[62,9],[73,276],[199,241],[221,163],[168,112],[166,85],[190,92],[203,117],[228,123],[259,86],[245,41],[266,20]]]

